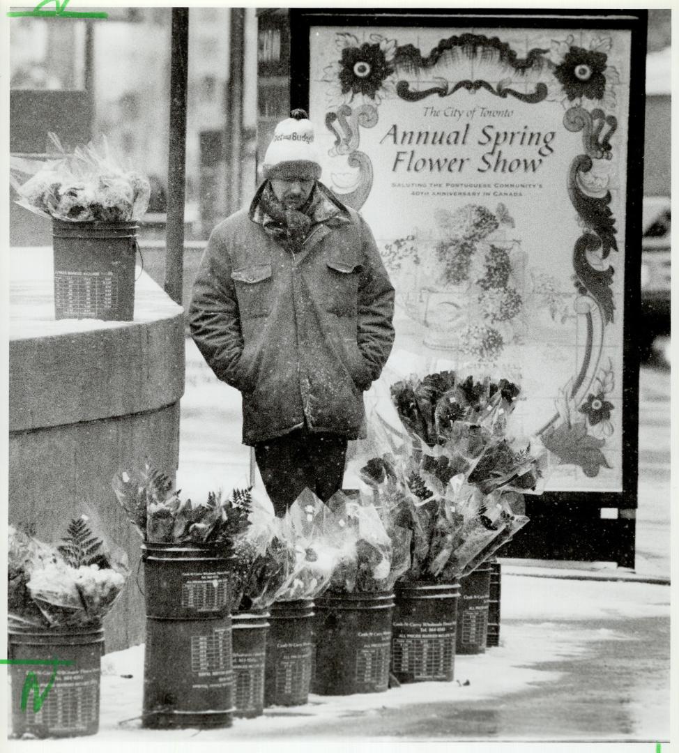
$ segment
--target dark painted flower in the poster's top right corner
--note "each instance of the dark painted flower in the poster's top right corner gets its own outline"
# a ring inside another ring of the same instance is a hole
[[[589,49],[574,44],[569,35],[564,40],[553,40],[550,57],[556,62],[554,75],[565,94],[564,102],[582,102],[591,99],[607,109],[616,107],[615,90],[611,84],[620,84],[620,75],[614,66],[608,65],[610,37],[595,37]]]

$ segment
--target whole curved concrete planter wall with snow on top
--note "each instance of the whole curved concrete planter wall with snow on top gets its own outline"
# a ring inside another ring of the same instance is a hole
[[[184,314],[145,274],[134,322],[53,316],[51,248],[14,249],[10,284],[9,520],[51,541],[90,515],[126,550],[129,581],[105,622],[106,651],[144,640],[142,543],[111,479],[154,465],[175,476]]]

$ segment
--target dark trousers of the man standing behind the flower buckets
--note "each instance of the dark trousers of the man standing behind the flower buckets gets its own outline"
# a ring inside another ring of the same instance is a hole
[[[254,457],[276,515],[285,515],[305,486],[324,502],[341,489],[346,445],[344,437],[306,428],[255,444]]]

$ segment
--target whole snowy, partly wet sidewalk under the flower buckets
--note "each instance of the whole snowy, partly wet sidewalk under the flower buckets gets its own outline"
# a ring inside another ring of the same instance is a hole
[[[227,730],[142,730],[143,647],[130,648],[105,656],[96,742],[667,740],[669,596],[662,585],[503,575],[500,646],[456,657],[452,683],[312,695]]]

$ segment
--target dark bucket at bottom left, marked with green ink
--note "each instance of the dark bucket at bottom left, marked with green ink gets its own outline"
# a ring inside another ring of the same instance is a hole
[[[14,736],[25,733],[38,738],[95,735],[99,730],[99,691],[104,631],[92,628],[47,629],[14,628],[8,630],[10,659],[72,661],[56,668],[54,684],[44,696],[39,711],[34,698],[44,694],[53,666],[14,664],[12,683],[12,730]],[[28,672],[34,672],[39,690],[28,696],[25,711],[21,699]]]

